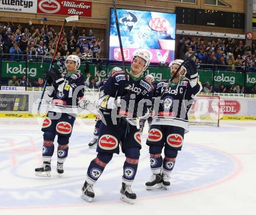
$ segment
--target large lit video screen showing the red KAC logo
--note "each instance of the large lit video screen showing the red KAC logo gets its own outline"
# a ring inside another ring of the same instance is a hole
[[[143,10],[116,9],[125,61],[138,49],[147,50],[151,63],[174,60],[176,14]],[[115,13],[110,10],[109,59],[122,60]]]

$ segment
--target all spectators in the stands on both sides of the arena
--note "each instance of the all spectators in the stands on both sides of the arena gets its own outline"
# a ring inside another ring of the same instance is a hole
[[[59,33],[54,27],[42,23],[41,27],[34,27],[31,22],[21,24],[0,24],[0,53],[6,60],[51,61],[54,55]],[[101,67],[101,44],[103,39],[95,37],[93,30],[77,27],[66,28],[63,31],[56,56],[57,64],[61,70],[65,70],[65,58],[69,54],[77,55],[83,61],[90,61]],[[176,57],[186,59],[193,52],[193,57],[198,69],[256,72],[256,45],[244,44],[242,40],[232,38],[212,39],[185,37],[179,39]],[[62,57],[60,57],[62,56]],[[88,69],[87,69],[88,70]],[[99,75],[91,76],[86,71],[88,88],[98,88],[101,83]],[[25,86],[26,78],[17,79],[13,76],[8,81],[9,86]],[[42,79],[27,79],[27,86],[42,86]],[[256,87],[247,89],[244,86],[212,86],[211,83],[203,83],[203,92],[212,93],[255,93]]]

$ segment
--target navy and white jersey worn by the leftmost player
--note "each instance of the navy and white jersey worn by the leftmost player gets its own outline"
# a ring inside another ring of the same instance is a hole
[[[84,75],[83,74],[66,74],[63,76],[65,82],[61,85],[49,87],[47,93],[50,97],[53,97],[51,104],[51,111],[72,113],[76,112],[79,99],[84,96]],[[73,99],[73,97],[76,97]],[[58,107],[58,108],[56,108]],[[74,108],[74,109],[73,109]]]

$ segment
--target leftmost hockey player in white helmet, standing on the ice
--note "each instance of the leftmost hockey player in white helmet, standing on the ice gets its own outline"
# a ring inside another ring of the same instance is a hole
[[[51,84],[47,93],[53,97],[44,122],[44,143],[42,145],[42,167],[35,169],[36,176],[51,176],[51,159],[54,154],[54,139],[58,136],[57,172],[62,174],[63,163],[69,151],[69,137],[71,136],[76,119],[79,99],[84,96],[84,75],[77,73],[80,59],[70,55],[66,59],[66,75],[52,68],[44,74],[44,78]]]

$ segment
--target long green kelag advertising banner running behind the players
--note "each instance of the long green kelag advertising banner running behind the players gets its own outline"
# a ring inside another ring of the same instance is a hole
[[[48,63],[37,63],[29,62],[27,64],[27,75],[29,78],[42,78],[42,74],[45,71],[48,71]],[[59,68],[58,65],[54,64],[55,68]],[[115,67],[109,65],[108,68],[106,65],[102,65],[102,70],[98,72],[97,65],[89,65],[89,72],[91,76],[99,75],[101,79],[104,79],[108,76],[108,72]],[[120,66],[122,67],[122,66]],[[130,70],[130,67],[126,67],[127,70]],[[86,65],[82,64],[79,67],[81,73],[85,74]],[[198,70],[200,76],[200,81],[202,83],[209,82],[212,83],[212,72],[211,70]],[[2,61],[2,78],[12,78],[13,75],[16,75],[17,78],[22,78],[26,74],[26,63],[25,62],[15,62],[15,61]],[[170,78],[170,69],[169,68],[157,68],[157,67],[148,67],[145,71],[145,75],[151,74],[155,78],[155,82],[159,82],[162,79]],[[244,79],[246,78],[246,82]],[[214,71],[214,85],[225,85],[225,86],[234,86],[240,85],[243,86],[246,83],[246,86],[251,87],[256,83],[256,73],[247,72],[232,72],[232,71]]]

